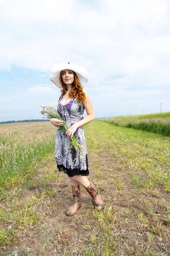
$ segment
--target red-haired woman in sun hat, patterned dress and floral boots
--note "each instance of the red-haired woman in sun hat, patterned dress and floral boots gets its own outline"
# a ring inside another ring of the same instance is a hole
[[[66,215],[72,216],[81,207],[80,184],[85,187],[95,202],[95,209],[103,208],[103,201],[98,190],[91,180],[86,176],[88,171],[88,157],[83,125],[94,120],[94,109],[88,93],[83,89],[88,81],[87,71],[80,66],[68,63],[55,65],[50,72],[50,80],[61,88],[62,95],[59,97],[57,111],[68,126],[66,133],[60,130],[62,122],[53,118],[51,124],[58,126],[55,157],[59,172],[64,171],[71,180],[74,204],[66,211]],[[83,118],[86,110],[87,116]],[[70,139],[77,134],[83,151],[77,154],[74,148],[70,147]]]

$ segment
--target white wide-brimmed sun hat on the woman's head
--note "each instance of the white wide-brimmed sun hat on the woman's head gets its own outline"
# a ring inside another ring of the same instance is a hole
[[[84,67],[74,65],[71,62],[59,63],[54,65],[50,70],[50,81],[53,82],[57,87],[62,89],[62,86],[59,82],[59,76],[60,76],[60,72],[65,69],[74,71],[78,76],[81,86],[85,87],[85,84],[87,84],[88,82],[87,71],[85,70]]]

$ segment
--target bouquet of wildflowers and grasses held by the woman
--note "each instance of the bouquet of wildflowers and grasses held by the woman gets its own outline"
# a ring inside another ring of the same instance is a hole
[[[40,111],[40,113],[42,115],[45,115],[46,118],[57,118],[59,120],[62,120],[62,117],[60,116],[60,114],[57,112],[57,109],[54,107],[42,107],[42,111]],[[45,118],[45,116],[43,118]],[[62,120],[63,121],[63,120]],[[60,126],[61,131],[66,132],[68,130],[68,126],[65,124],[65,122],[63,121],[62,126]],[[79,139],[77,137],[77,134],[74,134],[73,137],[70,139],[71,140],[71,148],[75,148],[75,150],[77,151],[77,153],[79,154],[80,152],[82,152],[83,147],[82,145],[80,145],[79,143]]]

